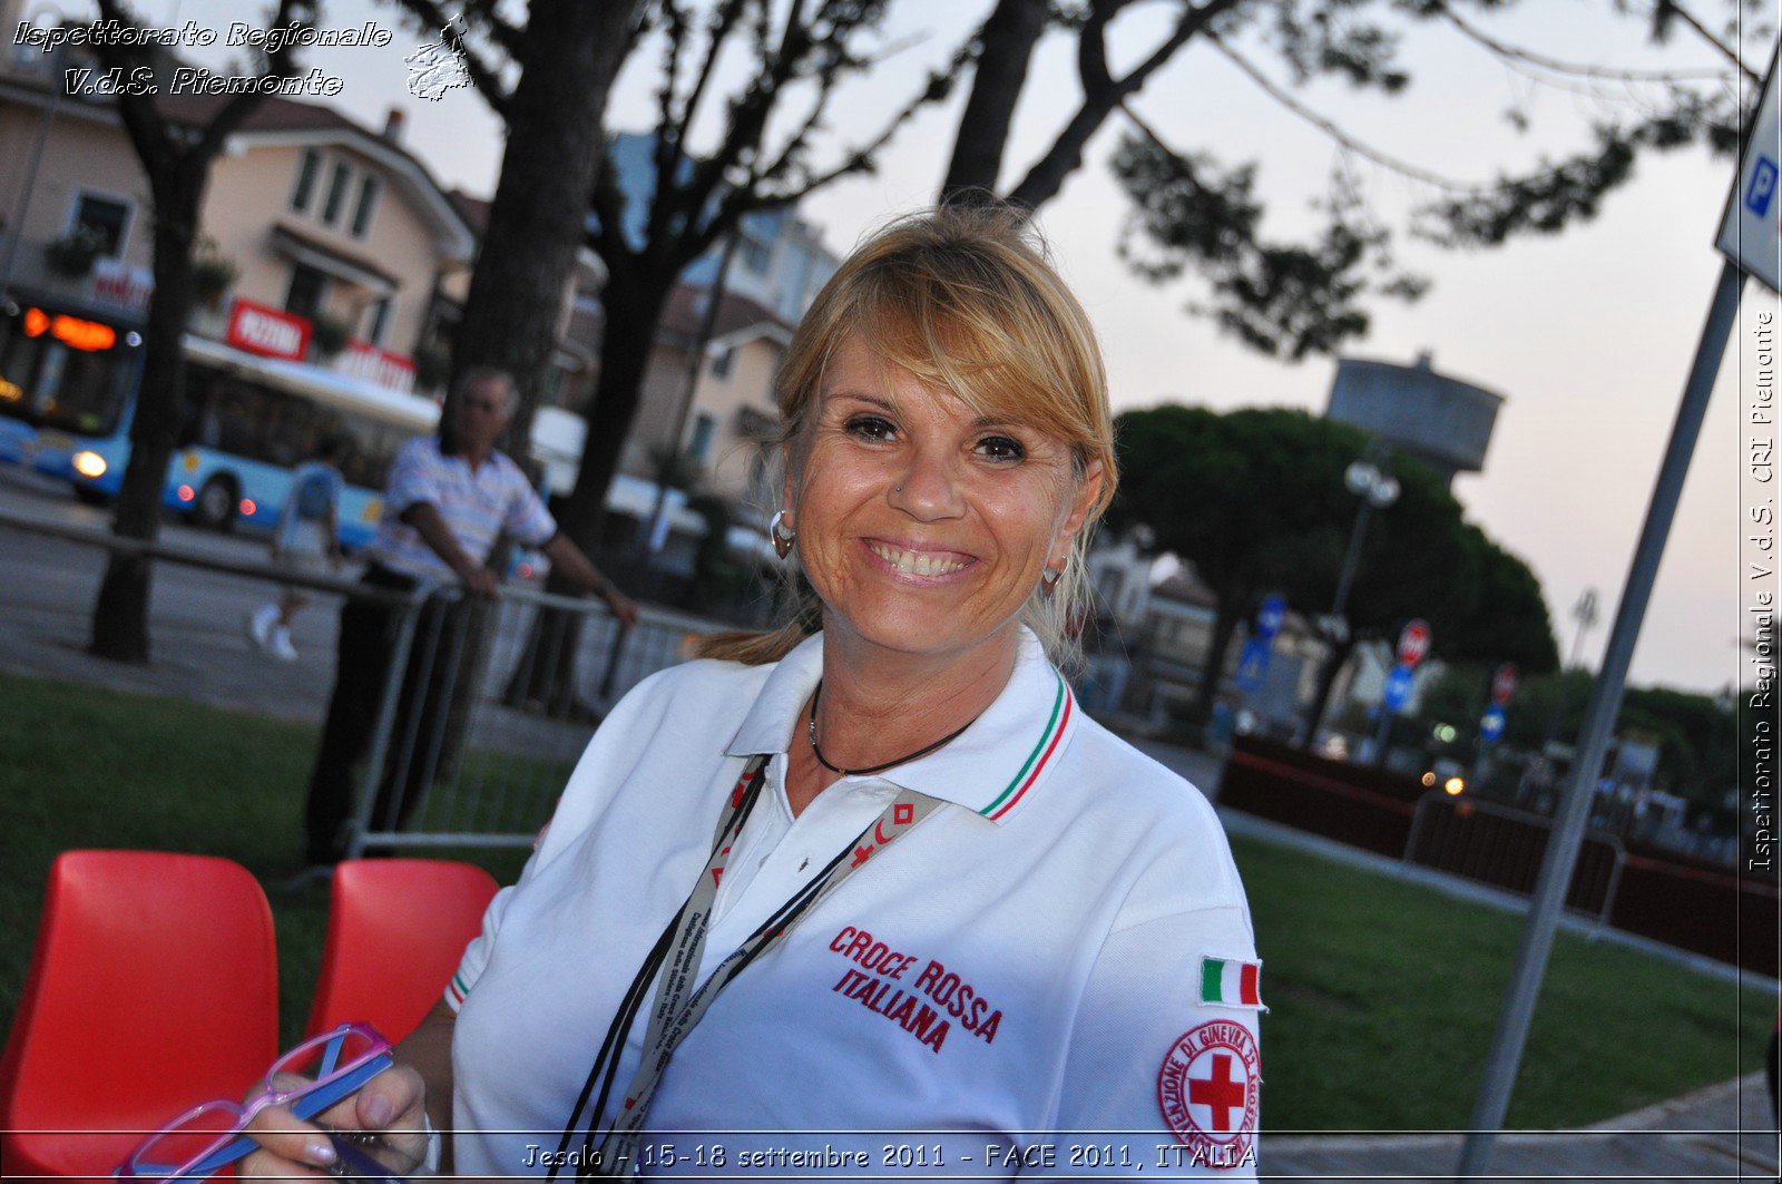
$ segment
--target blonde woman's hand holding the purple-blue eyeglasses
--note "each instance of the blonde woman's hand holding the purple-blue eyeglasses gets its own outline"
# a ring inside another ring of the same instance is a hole
[[[396,1065],[367,1081],[353,1097],[317,1114],[314,1122],[299,1120],[283,1106],[271,1106],[248,1123],[248,1134],[260,1143],[260,1150],[241,1163],[241,1175],[299,1179],[331,1175],[339,1155],[328,1129],[383,1136],[365,1147],[365,1154],[385,1163],[392,1175],[408,1175],[428,1154],[424,1102],[426,1084],[421,1073],[406,1065]]]

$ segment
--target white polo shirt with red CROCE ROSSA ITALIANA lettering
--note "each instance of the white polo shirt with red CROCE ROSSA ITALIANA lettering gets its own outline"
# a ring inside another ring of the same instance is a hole
[[[663,1073],[642,1173],[1253,1175],[1258,1007],[1237,1000],[1256,997],[1255,941],[1199,792],[1083,717],[1023,631],[1009,685],[964,735],[843,777],[793,818],[784,754],[820,672],[822,637],[768,667],[691,662],[595,733],[447,991],[456,1170],[549,1170],[745,758],[773,752],[700,981],[898,786],[943,806],[718,995]]]

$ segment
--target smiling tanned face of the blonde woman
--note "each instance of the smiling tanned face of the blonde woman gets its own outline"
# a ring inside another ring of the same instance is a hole
[[[1099,487],[1099,464],[1076,480],[1062,440],[980,419],[848,337],[813,396],[786,505],[829,629],[962,658],[1012,642]]]

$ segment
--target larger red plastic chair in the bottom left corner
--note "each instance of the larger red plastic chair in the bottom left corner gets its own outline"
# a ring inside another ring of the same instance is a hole
[[[5,1175],[109,1177],[278,1056],[273,913],[239,863],[68,851],[0,1056]]]

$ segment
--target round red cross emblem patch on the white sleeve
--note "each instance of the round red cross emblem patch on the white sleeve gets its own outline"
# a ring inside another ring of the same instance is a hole
[[[1262,1063],[1242,1024],[1214,1020],[1185,1032],[1157,1073],[1164,1122],[1208,1168],[1255,1164]]]

